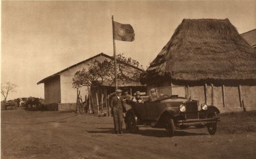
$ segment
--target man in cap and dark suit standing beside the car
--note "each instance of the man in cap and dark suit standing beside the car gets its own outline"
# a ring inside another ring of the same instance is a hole
[[[122,122],[123,122],[123,112],[125,112],[125,105],[122,99],[122,90],[116,90],[116,96],[111,98],[110,107],[112,108],[112,113],[114,117],[114,129],[116,134],[122,134]]]

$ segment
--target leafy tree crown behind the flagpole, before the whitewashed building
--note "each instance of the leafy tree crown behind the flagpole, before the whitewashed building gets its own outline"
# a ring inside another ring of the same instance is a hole
[[[142,71],[133,70],[129,65],[140,66],[137,60],[126,58],[123,54],[117,55],[117,78],[121,81],[139,81]],[[83,68],[75,73],[73,78],[74,88],[81,86],[97,87],[104,81],[108,81],[110,85],[114,84],[114,57],[113,60],[105,59],[102,62],[94,60],[88,66],[88,69]],[[142,66],[140,67],[142,68]]]

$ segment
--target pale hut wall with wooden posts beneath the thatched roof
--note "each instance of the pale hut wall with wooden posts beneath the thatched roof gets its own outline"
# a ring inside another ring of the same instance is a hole
[[[147,93],[149,90],[157,87],[157,85],[161,87],[170,87],[170,85],[166,85],[168,81],[157,84],[147,84]],[[177,86],[177,85],[173,85]],[[183,94],[185,91],[184,87],[172,87],[172,94]],[[246,86],[242,85],[241,87],[241,101],[244,102],[244,108],[249,110],[256,110],[256,86]],[[170,92],[169,90],[161,89],[161,93]],[[213,91],[212,91],[213,89]],[[213,93],[213,94],[212,94]],[[169,93],[167,93],[169,95]],[[188,94],[192,99],[198,100],[199,105],[202,103],[207,103],[207,105],[216,106],[220,112],[236,112],[236,111],[244,111],[243,105],[240,104],[239,98],[239,86],[224,86],[224,99],[225,105],[223,104],[223,89],[222,86],[211,86],[207,85],[206,87],[206,99],[205,99],[205,86],[189,86]]]

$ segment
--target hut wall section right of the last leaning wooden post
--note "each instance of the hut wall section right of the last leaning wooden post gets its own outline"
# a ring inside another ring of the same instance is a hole
[[[241,98],[242,101],[244,101],[244,108],[246,111],[256,110],[256,85],[242,85]]]

